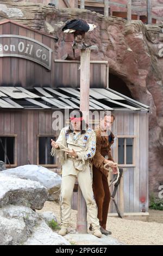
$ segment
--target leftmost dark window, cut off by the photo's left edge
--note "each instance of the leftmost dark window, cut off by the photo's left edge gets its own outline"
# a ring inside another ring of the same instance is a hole
[[[0,160],[3,161],[7,167],[17,165],[16,136],[0,135]]]

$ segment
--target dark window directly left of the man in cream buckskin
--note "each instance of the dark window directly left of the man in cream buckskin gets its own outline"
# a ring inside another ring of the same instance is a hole
[[[38,136],[38,151],[37,164],[42,166],[52,166],[55,164],[55,157],[51,156],[51,139],[55,141],[53,136]]]

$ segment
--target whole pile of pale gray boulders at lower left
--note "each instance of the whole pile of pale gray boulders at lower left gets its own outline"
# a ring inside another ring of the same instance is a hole
[[[48,198],[40,182],[0,174],[0,245],[70,245],[53,232],[53,212],[39,214]]]

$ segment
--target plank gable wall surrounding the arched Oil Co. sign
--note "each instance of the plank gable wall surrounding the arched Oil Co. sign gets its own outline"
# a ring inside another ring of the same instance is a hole
[[[33,38],[51,47],[54,51],[54,39],[49,36],[30,31],[12,23],[0,25],[0,31],[1,34],[15,34]],[[21,41],[25,42],[23,39]],[[9,44],[10,39],[4,38],[3,42],[4,44]],[[10,86],[19,84],[22,87],[33,87],[34,84],[54,86],[54,52],[52,53],[52,70],[50,72],[43,66],[22,58],[1,57],[0,63],[0,86],[2,84]]]

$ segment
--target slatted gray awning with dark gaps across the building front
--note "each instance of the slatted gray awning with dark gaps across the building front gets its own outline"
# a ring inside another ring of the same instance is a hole
[[[0,87],[0,108],[79,109],[79,107],[79,88]],[[90,110],[148,111],[149,107],[109,88],[91,88]]]

